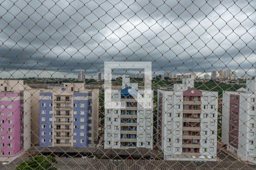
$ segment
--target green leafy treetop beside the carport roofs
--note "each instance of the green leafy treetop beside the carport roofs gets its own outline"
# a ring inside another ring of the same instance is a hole
[[[19,164],[16,170],[57,170],[52,167],[52,163],[57,163],[53,156],[36,155],[30,160]]]

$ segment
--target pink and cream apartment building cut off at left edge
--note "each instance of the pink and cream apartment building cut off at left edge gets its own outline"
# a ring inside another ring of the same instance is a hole
[[[0,80],[0,161],[11,161],[31,145],[31,95],[23,80]]]

